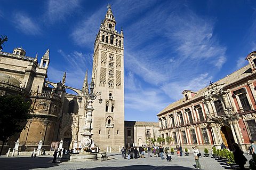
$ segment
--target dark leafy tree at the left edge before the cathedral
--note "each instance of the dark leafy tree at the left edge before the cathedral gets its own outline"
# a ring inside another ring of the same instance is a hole
[[[25,129],[27,120],[31,118],[29,114],[30,102],[21,95],[0,96],[0,140],[4,143],[8,137]]]

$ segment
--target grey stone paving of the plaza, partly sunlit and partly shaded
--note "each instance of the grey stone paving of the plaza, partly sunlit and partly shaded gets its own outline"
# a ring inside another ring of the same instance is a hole
[[[189,156],[177,157],[172,156],[172,161],[167,162],[161,160],[161,157],[146,157],[139,159],[124,159],[121,154],[108,155],[109,158],[114,158],[105,161],[72,161],[60,162],[57,158],[57,163],[52,163],[52,156],[41,156],[36,158],[30,157],[0,157],[0,169],[55,169],[55,170],[68,170],[68,169],[91,169],[91,170],[134,170],[134,169],[147,169],[147,170],[164,170],[164,169],[195,169],[195,160],[192,154]],[[245,155],[249,160],[251,156]],[[202,157],[200,160],[202,169],[230,169],[229,166],[221,165],[213,158]],[[226,167],[226,168],[225,168]]]

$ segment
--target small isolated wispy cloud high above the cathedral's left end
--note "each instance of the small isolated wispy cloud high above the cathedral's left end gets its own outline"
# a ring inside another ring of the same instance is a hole
[[[37,25],[38,22],[30,18],[27,14],[17,12],[14,14],[13,23],[22,33],[27,35],[40,35],[42,30]]]

